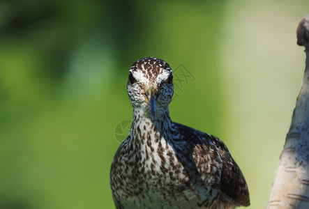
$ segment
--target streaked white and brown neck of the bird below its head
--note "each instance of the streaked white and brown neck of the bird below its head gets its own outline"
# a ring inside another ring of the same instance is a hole
[[[156,135],[156,137],[151,137],[151,139],[160,137],[160,139],[168,140],[175,137],[177,133],[176,125],[169,117],[168,107],[157,107],[155,121],[151,121],[149,109],[135,108],[133,110],[133,123],[130,131],[134,132],[134,135],[139,140],[147,140],[149,134]]]

